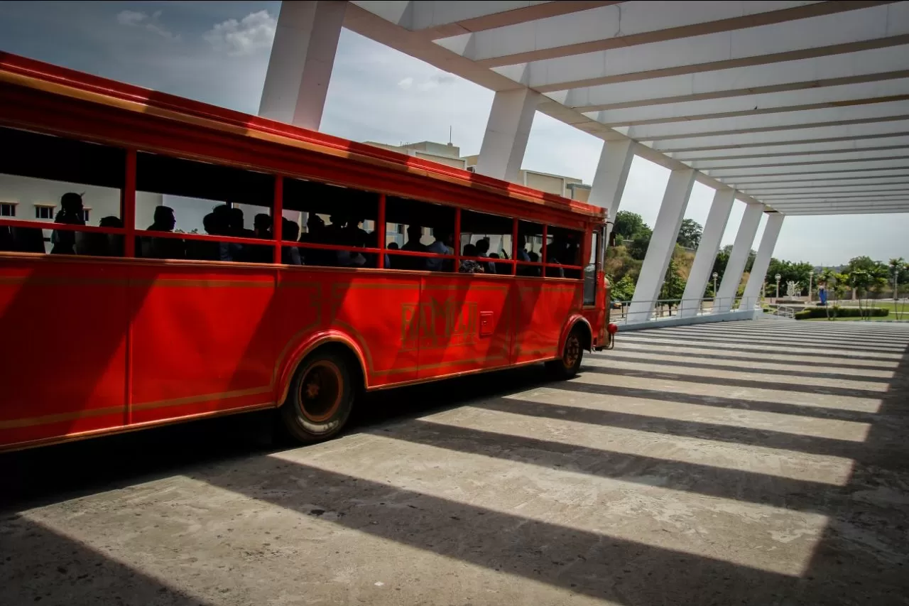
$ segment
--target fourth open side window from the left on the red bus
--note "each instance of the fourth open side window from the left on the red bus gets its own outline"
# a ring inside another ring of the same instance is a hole
[[[385,246],[402,251],[389,252],[391,268],[454,271],[454,258],[441,257],[454,255],[454,212],[440,204],[387,197]]]

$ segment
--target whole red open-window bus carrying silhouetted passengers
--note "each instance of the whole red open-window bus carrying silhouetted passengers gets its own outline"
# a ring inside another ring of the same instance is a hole
[[[103,215],[103,217],[102,217]],[[0,54],[0,449],[608,348],[604,210]],[[302,232],[302,234],[300,234]]]

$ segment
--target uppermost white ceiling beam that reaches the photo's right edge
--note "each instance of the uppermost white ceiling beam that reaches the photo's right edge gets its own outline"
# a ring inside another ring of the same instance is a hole
[[[756,66],[909,43],[909,5],[876,5],[680,40],[494,67],[544,93],[579,86]]]

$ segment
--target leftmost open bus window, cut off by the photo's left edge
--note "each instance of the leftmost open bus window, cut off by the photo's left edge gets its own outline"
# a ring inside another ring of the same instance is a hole
[[[126,154],[122,149],[0,127],[0,249],[98,257],[123,256],[123,236],[48,224],[120,229]]]

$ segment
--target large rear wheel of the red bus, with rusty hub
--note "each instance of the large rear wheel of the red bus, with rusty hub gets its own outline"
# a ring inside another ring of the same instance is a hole
[[[335,435],[354,406],[354,382],[344,356],[315,351],[296,369],[281,420],[295,439],[315,442]]]

